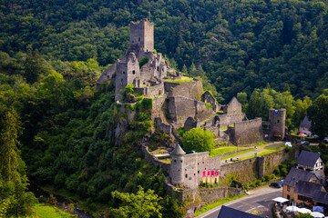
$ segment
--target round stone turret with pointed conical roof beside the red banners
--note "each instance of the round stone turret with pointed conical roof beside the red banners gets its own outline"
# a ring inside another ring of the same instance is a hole
[[[171,178],[172,184],[183,183],[183,164],[184,164],[184,154],[186,154],[179,144],[170,153],[171,163],[169,169],[169,177]]]

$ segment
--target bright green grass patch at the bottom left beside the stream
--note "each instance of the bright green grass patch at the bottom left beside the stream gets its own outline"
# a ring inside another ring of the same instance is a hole
[[[63,212],[55,206],[46,203],[36,203],[33,211],[35,212],[33,215],[34,218],[77,217],[77,215]]]

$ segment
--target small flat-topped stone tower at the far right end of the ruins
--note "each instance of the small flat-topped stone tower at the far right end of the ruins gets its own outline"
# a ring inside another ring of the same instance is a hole
[[[286,110],[285,109],[270,109],[269,111],[269,124],[271,140],[282,140],[285,135],[285,123],[286,123]]]

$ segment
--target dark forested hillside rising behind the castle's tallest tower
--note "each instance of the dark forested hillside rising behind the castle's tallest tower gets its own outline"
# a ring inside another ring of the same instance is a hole
[[[129,22],[150,17],[157,51],[180,70],[201,64],[226,101],[267,83],[313,98],[328,82],[326,13],[324,1],[3,1],[0,49],[112,64]]]

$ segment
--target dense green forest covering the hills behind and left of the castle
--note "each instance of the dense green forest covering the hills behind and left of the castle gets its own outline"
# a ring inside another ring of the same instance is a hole
[[[164,173],[136,146],[152,125],[149,109],[129,124],[118,147],[114,123],[124,117],[113,87],[95,89],[97,77],[128,48],[129,22],[144,17],[155,23],[157,51],[184,74],[213,85],[221,104],[235,95],[249,118],[264,120],[268,109],[284,107],[290,128],[305,114],[328,122],[325,4],[3,0],[1,149],[11,153],[0,154],[14,161],[0,158],[0,214],[30,213],[36,200],[26,193],[27,173],[108,216],[129,216],[118,210],[126,205],[122,192],[153,199],[152,216],[182,216],[184,205],[165,194]],[[321,137],[328,133],[325,126],[313,128],[324,130]]]

